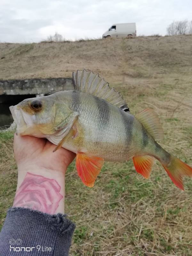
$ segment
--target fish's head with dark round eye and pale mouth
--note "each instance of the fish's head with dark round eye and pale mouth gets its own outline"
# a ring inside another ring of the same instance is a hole
[[[69,109],[65,102],[59,104],[53,95],[26,99],[10,107],[17,125],[16,134],[46,138],[58,132]]]

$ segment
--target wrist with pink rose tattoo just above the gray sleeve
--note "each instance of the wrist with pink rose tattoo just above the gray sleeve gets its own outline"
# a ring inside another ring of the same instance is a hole
[[[14,207],[31,208],[49,214],[64,213],[65,172],[36,164],[18,165]]]

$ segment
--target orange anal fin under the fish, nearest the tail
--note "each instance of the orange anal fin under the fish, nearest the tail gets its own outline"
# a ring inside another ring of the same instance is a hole
[[[154,160],[155,159],[153,156],[134,156],[133,164],[136,171],[148,179],[154,164]]]

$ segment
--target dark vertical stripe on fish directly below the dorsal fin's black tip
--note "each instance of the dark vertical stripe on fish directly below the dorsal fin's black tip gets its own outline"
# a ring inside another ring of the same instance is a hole
[[[122,116],[124,130],[125,130],[125,148],[131,145],[132,137],[133,137],[133,125],[134,125],[134,117],[132,115],[127,114],[124,110],[119,109],[119,112]]]

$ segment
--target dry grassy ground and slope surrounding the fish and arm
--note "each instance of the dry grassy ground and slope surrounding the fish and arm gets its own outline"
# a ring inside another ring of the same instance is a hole
[[[192,165],[191,40],[167,36],[0,44],[5,56],[0,78],[71,77],[84,67],[100,72],[123,93],[133,114],[154,108],[164,126],[161,145]],[[1,137],[3,221],[16,189],[16,166],[12,136]],[[158,163],[149,180],[136,174],[131,161],[105,163],[91,189],[73,167],[66,177],[66,212],[76,222],[71,256],[192,255],[192,180],[185,179],[182,192]]]

